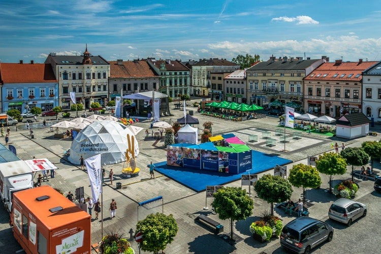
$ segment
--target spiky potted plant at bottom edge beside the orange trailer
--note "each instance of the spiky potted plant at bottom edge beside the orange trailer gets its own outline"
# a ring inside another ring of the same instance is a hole
[[[130,242],[123,238],[123,234],[118,232],[110,232],[102,238],[99,244],[101,253],[104,254],[134,254]]]

